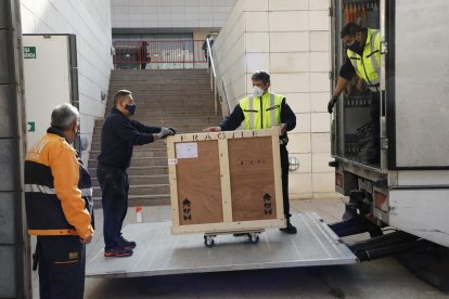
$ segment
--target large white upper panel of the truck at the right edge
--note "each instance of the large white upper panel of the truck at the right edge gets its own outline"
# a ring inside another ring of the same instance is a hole
[[[387,35],[390,169],[449,169],[449,1],[395,0]]]

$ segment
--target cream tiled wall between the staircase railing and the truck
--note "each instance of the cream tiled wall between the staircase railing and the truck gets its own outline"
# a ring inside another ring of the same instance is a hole
[[[286,96],[297,117],[290,132],[291,198],[334,193],[330,155],[329,0],[238,0],[215,44],[217,68],[233,108],[252,92],[251,75],[271,74],[271,91]]]

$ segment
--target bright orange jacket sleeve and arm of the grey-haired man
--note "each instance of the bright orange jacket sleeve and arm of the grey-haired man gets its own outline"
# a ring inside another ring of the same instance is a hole
[[[86,209],[86,202],[78,188],[79,164],[75,151],[63,148],[50,157],[50,167],[53,174],[54,191],[61,200],[61,206],[67,222],[75,226],[78,235],[87,242],[93,234],[91,217]],[[82,240],[81,240],[82,242]]]

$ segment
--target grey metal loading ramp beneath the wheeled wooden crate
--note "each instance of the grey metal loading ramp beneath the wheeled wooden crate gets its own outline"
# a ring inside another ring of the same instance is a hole
[[[123,232],[138,244],[133,256],[105,258],[99,246],[88,257],[86,275],[138,277],[357,262],[317,213],[296,213],[292,223],[296,235],[267,230],[257,244],[247,236],[217,235],[214,247],[204,245],[203,234],[171,234],[171,222],[129,224]]]

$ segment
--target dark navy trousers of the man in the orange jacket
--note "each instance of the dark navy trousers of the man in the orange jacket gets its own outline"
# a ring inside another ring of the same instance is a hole
[[[79,299],[85,294],[86,245],[79,236],[38,236],[40,299]]]

